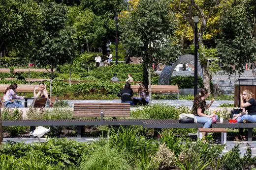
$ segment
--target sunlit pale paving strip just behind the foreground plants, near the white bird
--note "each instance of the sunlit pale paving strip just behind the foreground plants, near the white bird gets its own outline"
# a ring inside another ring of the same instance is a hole
[[[67,138],[78,142],[92,142],[96,140],[97,138]],[[3,141],[14,141],[14,142],[25,142],[25,143],[32,143],[32,142],[38,142],[37,138],[3,138]],[[46,142],[46,138],[41,138],[41,142]],[[239,149],[241,151],[241,156],[244,156],[246,152],[247,145],[251,145],[252,147],[252,155],[256,156],[256,142],[227,142],[227,147],[224,149],[224,153],[228,152],[231,148],[233,148],[235,145],[239,145]]]

